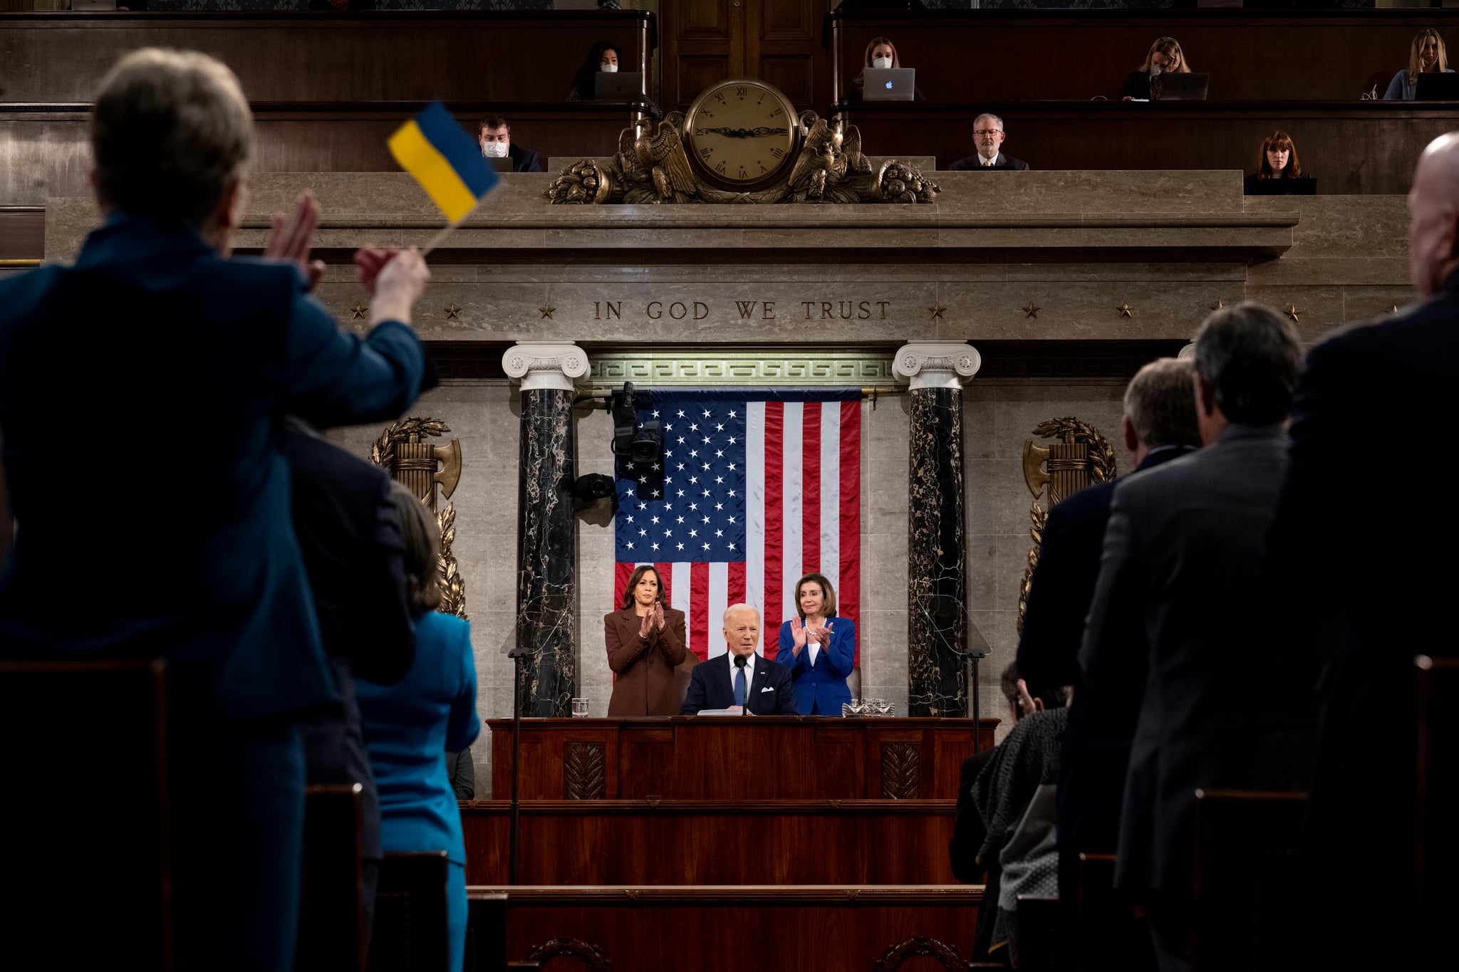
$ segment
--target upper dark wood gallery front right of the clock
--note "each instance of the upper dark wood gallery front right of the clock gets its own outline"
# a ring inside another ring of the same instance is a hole
[[[861,71],[867,42],[897,45],[929,101],[1113,98],[1157,36],[1180,41],[1221,101],[1357,101],[1408,66],[1423,28],[1459,42],[1456,10],[928,10],[832,15],[836,90]]]

